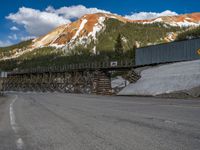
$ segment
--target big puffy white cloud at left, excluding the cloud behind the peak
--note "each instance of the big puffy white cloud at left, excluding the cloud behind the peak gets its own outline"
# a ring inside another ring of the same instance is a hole
[[[46,34],[51,29],[70,22],[55,13],[26,7],[20,8],[15,14],[9,14],[6,18],[23,25],[26,31],[34,36]]]

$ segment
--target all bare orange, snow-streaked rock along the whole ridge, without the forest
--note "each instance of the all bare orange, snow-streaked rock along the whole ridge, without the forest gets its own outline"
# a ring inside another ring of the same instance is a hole
[[[200,25],[200,13],[185,14],[179,16],[164,16],[151,20],[129,20],[121,16],[105,13],[88,14],[70,24],[62,25],[50,33],[33,41],[32,48],[53,46],[73,49],[78,45],[87,46],[92,41],[98,41],[98,34],[106,29],[105,21],[116,19],[123,23],[152,24],[164,23],[176,27],[189,27]],[[168,33],[166,39],[170,39],[174,33]],[[169,37],[170,36],[170,37]]]

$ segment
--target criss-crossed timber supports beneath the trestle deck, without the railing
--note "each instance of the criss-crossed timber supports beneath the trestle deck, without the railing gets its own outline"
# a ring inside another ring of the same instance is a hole
[[[4,82],[7,91],[112,94],[109,72],[101,71],[17,74]]]

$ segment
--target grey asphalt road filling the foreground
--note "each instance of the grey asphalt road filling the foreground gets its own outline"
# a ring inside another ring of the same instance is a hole
[[[199,150],[200,100],[10,93],[0,150]]]

